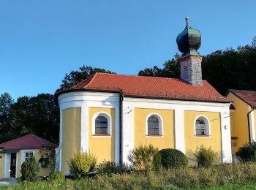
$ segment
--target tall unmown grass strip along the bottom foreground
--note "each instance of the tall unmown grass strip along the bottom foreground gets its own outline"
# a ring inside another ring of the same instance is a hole
[[[10,189],[256,189],[256,163],[134,171],[78,180],[23,181]]]

